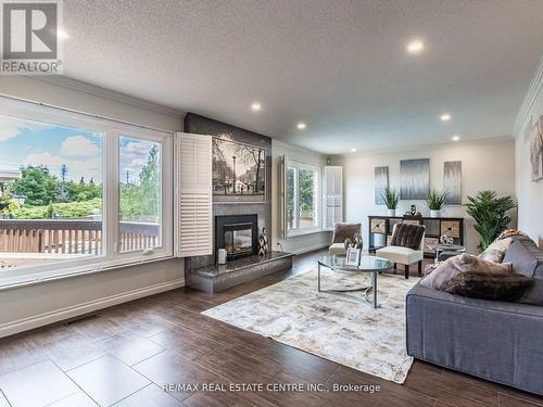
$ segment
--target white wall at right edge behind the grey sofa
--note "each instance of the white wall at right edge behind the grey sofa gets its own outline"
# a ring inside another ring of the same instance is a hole
[[[543,247],[543,180],[532,182],[529,131],[533,117],[543,115],[543,56],[515,124],[516,191],[519,202],[518,226]]]

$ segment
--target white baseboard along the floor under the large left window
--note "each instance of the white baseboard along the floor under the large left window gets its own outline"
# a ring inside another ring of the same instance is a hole
[[[108,308],[113,305],[127,303],[129,301],[142,298],[144,296],[175,290],[180,287],[185,287],[185,279],[161,282],[159,284],[148,285],[142,289],[126,291],[124,293],[110,295],[103,298],[72,305],[70,307],[55,309],[29,318],[18,319],[16,321],[10,321],[0,325],[0,338],[28,331],[30,329],[39,328],[49,323],[62,321],[64,319],[78,317],[79,315],[92,313],[98,309]]]

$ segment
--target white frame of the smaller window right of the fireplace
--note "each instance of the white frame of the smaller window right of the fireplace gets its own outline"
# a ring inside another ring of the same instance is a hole
[[[323,166],[317,165],[317,164],[308,164],[308,163],[303,163],[296,160],[287,160],[286,163],[286,171],[288,173],[290,168],[294,168],[294,207],[296,211],[294,211],[294,228],[289,228],[288,227],[288,221],[287,221],[287,237],[288,238],[294,238],[299,236],[304,236],[304,234],[312,234],[312,233],[318,233],[323,231],[323,204],[321,204],[321,196],[323,196]],[[312,170],[317,173],[317,191],[315,193],[315,199],[314,199],[314,205],[316,206],[315,211],[315,216],[317,217],[317,225],[314,226],[306,226],[306,227],[301,227],[300,226],[300,171],[302,170]],[[286,186],[285,186],[285,196],[286,200],[287,198],[287,191],[289,189],[288,186],[288,176],[286,177]],[[288,203],[286,202],[286,207],[288,206]]]

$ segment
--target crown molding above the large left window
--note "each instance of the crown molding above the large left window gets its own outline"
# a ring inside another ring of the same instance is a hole
[[[182,119],[186,112],[176,109],[167,107],[157,103],[149,102],[143,99],[135,98],[114,90],[101,88],[96,85],[87,84],[77,79],[72,79],[66,76],[34,76],[31,79],[40,80],[46,84],[61,86],[63,88],[76,90],[78,92],[91,94],[94,97],[108,99],[114,102],[128,104],[135,107],[143,109],[149,112],[160,113],[166,116]]]

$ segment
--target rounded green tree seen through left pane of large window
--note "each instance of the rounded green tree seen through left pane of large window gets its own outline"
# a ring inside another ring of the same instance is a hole
[[[25,205],[49,205],[56,200],[58,179],[46,166],[21,167],[21,178],[8,186],[8,191],[26,198]]]

